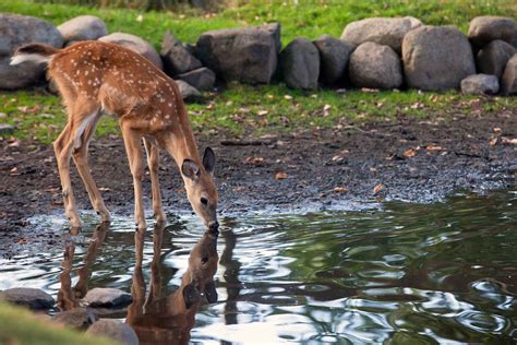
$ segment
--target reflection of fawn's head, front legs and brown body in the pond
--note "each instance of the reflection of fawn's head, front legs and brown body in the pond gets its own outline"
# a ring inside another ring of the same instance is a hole
[[[217,271],[217,233],[207,230],[192,249],[189,267],[181,286],[172,294],[161,297],[159,267],[164,225],[154,230],[154,255],[151,263],[151,283],[147,298],[142,272],[144,233],[135,234],[136,263],[131,294],[133,302],[128,309],[128,322],[139,335],[141,344],[188,344],[190,331],[195,323],[195,313],[203,300],[217,301],[214,275]]]

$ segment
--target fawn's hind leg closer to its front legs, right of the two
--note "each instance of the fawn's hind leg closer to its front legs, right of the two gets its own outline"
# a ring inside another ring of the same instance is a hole
[[[89,164],[88,164],[88,145],[89,140],[95,133],[95,129],[97,128],[97,122],[100,118],[100,111],[97,111],[96,115],[92,120],[87,122],[82,133],[76,133],[80,135],[79,140],[74,145],[74,150],[72,153],[73,160],[75,166],[77,167],[79,175],[83,179],[84,187],[88,192],[88,198],[92,203],[92,206],[100,215],[100,218],[104,223],[110,222],[110,215],[108,209],[104,203],[103,197],[97,188],[97,185],[94,181],[92,172],[89,171]],[[76,145],[80,144],[79,147]]]

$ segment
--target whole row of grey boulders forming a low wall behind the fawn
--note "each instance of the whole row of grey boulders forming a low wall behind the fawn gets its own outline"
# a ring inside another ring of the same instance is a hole
[[[160,52],[142,38],[108,35],[95,16],[75,17],[57,28],[39,19],[0,14],[0,88],[29,86],[41,80],[43,67],[9,66],[21,45],[41,41],[62,47],[99,39],[142,53],[180,82],[184,96],[214,90],[217,82],[248,84],[284,82],[292,88],[418,88],[464,93],[517,93],[516,23],[509,17],[478,16],[468,35],[454,26],[431,26],[406,17],[370,17],[349,23],[341,37],[298,37],[281,49],[280,25],[209,31],[195,45],[172,33],[164,35]],[[45,32],[46,35],[41,35]],[[50,33],[50,34],[49,34]],[[188,95],[187,95],[188,94]]]

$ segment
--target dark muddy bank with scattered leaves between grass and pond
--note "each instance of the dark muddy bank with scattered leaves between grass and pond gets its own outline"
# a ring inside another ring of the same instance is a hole
[[[431,120],[399,118],[240,140],[197,135],[200,151],[211,145],[218,158],[221,215],[339,210],[382,200],[426,203],[458,189],[505,188],[516,181],[517,145],[512,141],[516,138],[517,110]],[[4,140],[0,150],[0,254],[5,255],[13,243],[26,240],[20,234],[31,228],[29,216],[63,211],[50,145]],[[94,140],[89,152],[108,209],[132,216],[132,180],[122,140]],[[166,207],[190,210],[176,165],[165,154],[161,157]],[[80,209],[91,209],[75,168],[72,179]],[[144,188],[148,195],[148,178]],[[148,199],[146,205],[151,214]]]

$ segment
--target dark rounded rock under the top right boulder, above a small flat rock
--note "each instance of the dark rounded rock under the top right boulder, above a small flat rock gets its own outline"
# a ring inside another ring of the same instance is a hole
[[[478,52],[478,69],[484,74],[494,74],[498,79],[516,49],[504,40],[492,40]]]

